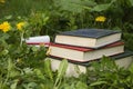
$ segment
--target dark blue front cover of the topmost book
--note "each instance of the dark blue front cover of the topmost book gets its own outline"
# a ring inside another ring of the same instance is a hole
[[[114,33],[121,33],[121,31],[106,30],[106,29],[79,29],[73,31],[61,32],[59,34],[84,37],[84,38],[102,38]]]

